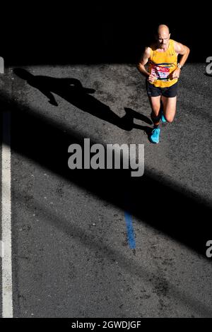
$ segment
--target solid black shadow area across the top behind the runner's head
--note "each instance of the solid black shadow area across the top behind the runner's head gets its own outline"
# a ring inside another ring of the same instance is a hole
[[[155,26],[163,23],[170,28],[171,38],[189,46],[189,62],[206,62],[211,54],[211,11],[206,6],[183,8],[180,23],[172,16],[163,19],[158,11],[151,11],[149,24],[149,3],[138,1],[136,6],[122,1],[64,1],[57,6],[31,8],[13,1],[1,1],[2,16],[0,27],[4,30],[1,40],[1,56],[12,66],[33,64],[95,64],[95,63],[133,63],[141,57],[143,47],[149,46]],[[69,7],[66,7],[68,6]],[[3,7],[4,6],[4,7]],[[16,8],[15,8],[16,6]],[[5,9],[4,9],[5,8]],[[172,9],[171,9],[172,8]],[[175,3],[169,4],[169,11],[175,13]],[[70,16],[71,15],[71,16]],[[70,20],[71,17],[71,20]],[[199,30],[199,18],[202,30]],[[37,19],[39,18],[39,19]],[[39,20],[39,23],[38,23]],[[162,21],[162,22],[161,22]],[[30,32],[30,38],[25,30]],[[13,40],[13,42],[11,42]],[[199,43],[204,45],[201,51]]]

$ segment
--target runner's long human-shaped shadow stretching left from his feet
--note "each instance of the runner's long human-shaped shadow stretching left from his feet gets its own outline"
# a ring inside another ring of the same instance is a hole
[[[58,104],[52,93],[59,95],[78,109],[82,109],[84,112],[88,112],[95,117],[110,122],[111,124],[114,124],[114,126],[118,126],[120,129],[131,131],[136,128],[146,131],[146,134],[151,131],[151,127],[134,124],[134,119],[140,119],[147,124],[152,124],[151,119],[148,119],[148,117],[145,117],[143,114],[139,114],[130,108],[125,108],[126,114],[124,117],[120,118],[117,114],[112,112],[110,107],[90,95],[95,93],[94,89],[83,88],[81,82],[76,78],[34,76],[25,69],[20,68],[13,69],[13,72],[20,78],[23,78],[23,80],[27,81],[29,85],[40,90],[40,92],[49,99],[49,103],[54,106],[58,106]]]

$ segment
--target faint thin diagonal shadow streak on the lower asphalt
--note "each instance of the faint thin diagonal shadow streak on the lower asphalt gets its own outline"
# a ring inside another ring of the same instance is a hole
[[[130,193],[129,193],[130,197]],[[74,225],[74,223],[70,223],[69,215],[64,216],[61,218],[60,213],[56,213],[56,211],[52,211],[52,208],[47,207],[45,204],[42,204],[40,201],[32,200],[30,196],[26,196],[23,193],[16,191],[16,201],[23,202],[25,201],[25,207],[28,209],[28,212],[32,214],[32,211],[36,211],[37,214],[40,216],[42,215],[43,218],[49,225],[54,225],[60,232],[64,232],[68,236],[73,237],[84,247],[87,247],[89,251],[98,251],[101,252],[107,261],[110,263],[114,263],[114,260],[119,262],[119,266],[123,268],[126,273],[134,278],[136,275],[141,283],[148,282],[150,283],[155,292],[159,296],[165,296],[165,289],[168,290],[171,297],[175,300],[180,301],[182,304],[186,305],[187,307],[192,308],[203,317],[211,317],[212,311],[211,308],[206,305],[206,303],[202,302],[201,300],[195,298],[196,295],[192,296],[189,294],[189,291],[181,290],[179,285],[172,283],[170,280],[160,280],[160,276],[155,271],[155,273],[151,272],[143,266],[143,261],[141,260],[140,263],[128,257],[125,252],[119,250],[119,247],[111,247],[107,244],[106,241],[102,239],[98,239],[93,237],[93,235],[88,234],[85,230],[81,228],[80,225]],[[14,239],[17,241],[17,238]],[[182,281],[183,283],[183,281]],[[164,287],[163,287],[164,285]],[[19,315],[20,316],[20,315]]]

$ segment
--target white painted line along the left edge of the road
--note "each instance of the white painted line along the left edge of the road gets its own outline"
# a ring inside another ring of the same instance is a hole
[[[1,169],[2,316],[13,317],[11,248],[11,114],[3,112]]]

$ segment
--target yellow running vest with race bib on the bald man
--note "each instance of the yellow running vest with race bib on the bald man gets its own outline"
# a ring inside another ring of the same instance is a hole
[[[169,76],[177,68],[177,53],[174,48],[174,40],[169,41],[169,47],[165,52],[158,52],[151,48],[151,56],[148,59],[148,72],[157,76],[153,85],[166,88],[172,86],[178,80],[170,80]]]

